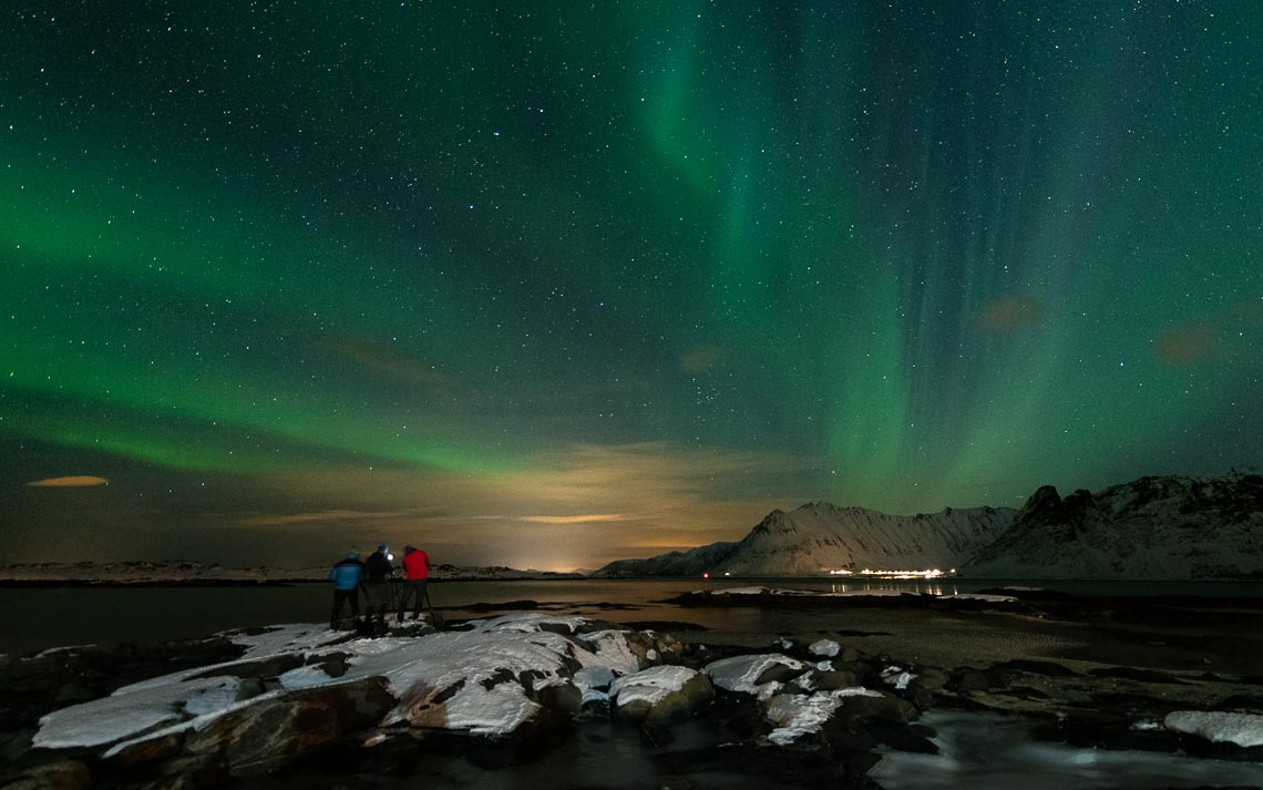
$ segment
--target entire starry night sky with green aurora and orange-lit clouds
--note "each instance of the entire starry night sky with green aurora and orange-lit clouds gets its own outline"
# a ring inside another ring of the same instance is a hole
[[[0,562],[596,568],[1259,461],[1257,4],[0,34]]]

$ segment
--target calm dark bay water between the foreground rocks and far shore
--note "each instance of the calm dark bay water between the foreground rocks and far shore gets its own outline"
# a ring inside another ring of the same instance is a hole
[[[757,608],[682,609],[661,603],[698,589],[779,586],[822,592],[901,590],[914,593],[976,593],[999,586],[995,580],[829,579],[652,579],[549,581],[436,581],[431,599],[452,618],[479,617],[464,609],[477,603],[536,600],[558,611],[613,621],[690,621],[717,632],[775,633],[777,616]],[[1056,581],[1013,583],[1081,595],[1263,597],[1263,583],[1247,581]],[[293,586],[202,588],[11,588],[0,590],[0,653],[28,653],[68,645],[207,636],[231,628],[277,623],[327,622],[327,583]],[[620,608],[602,607],[614,604]]]

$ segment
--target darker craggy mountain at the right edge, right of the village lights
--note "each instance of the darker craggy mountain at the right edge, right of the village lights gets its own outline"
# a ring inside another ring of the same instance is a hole
[[[1062,499],[1045,485],[965,565],[976,578],[1263,576],[1263,477],[1148,477]]]

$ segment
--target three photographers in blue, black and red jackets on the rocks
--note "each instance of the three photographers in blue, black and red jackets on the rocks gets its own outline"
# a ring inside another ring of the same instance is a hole
[[[412,618],[421,617],[421,607],[428,600],[426,597],[426,581],[429,579],[432,562],[429,555],[416,546],[405,546],[403,550],[403,592],[399,595],[398,622],[403,622],[408,602],[416,599]],[[390,547],[380,544],[378,550],[369,555],[369,559],[360,560],[359,551],[351,551],[346,559],[340,561],[330,571],[328,578],[333,583],[333,612],[328,618],[328,627],[337,628],[342,614],[342,604],[351,604],[351,617],[360,617],[360,595],[364,590],[365,617],[364,624],[371,626],[374,621],[381,623],[386,619],[386,605],[392,598],[392,580],[395,576],[394,555]]]

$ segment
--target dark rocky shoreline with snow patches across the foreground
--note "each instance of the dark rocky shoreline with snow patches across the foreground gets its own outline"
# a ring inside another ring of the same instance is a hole
[[[1013,590],[863,602],[696,595],[678,603],[1089,619],[1106,611]],[[1258,617],[1258,602],[1128,605],[1110,602],[1110,617],[1143,624],[1144,612],[1212,609],[1215,628],[1229,629]],[[1080,747],[1263,762],[1257,675],[1071,659],[936,666],[865,651],[865,632],[751,646],[712,643],[681,623],[640,626],[532,613],[443,632],[409,622],[380,638],[287,626],[6,656],[0,762],[10,767],[0,787],[213,787],[331,765],[345,776],[399,775],[426,755],[494,769],[534,760],[585,723],[618,722],[638,728],[673,775],[722,767],[782,786],[868,789],[879,750],[937,751],[918,723],[935,708],[1028,717],[1037,737]],[[667,748],[681,722],[714,738]]]

